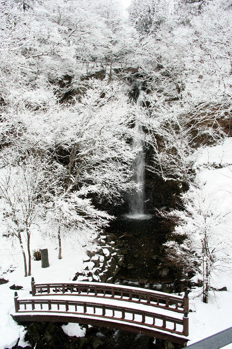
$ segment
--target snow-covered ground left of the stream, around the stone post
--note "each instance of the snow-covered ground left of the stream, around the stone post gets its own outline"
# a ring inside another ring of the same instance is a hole
[[[32,260],[32,275],[36,283],[44,282],[70,282],[78,271],[82,270],[83,257],[86,255],[86,247],[80,243],[71,246],[69,240],[64,242],[62,249],[62,259],[58,259],[58,249],[54,248],[56,243],[44,239],[37,232],[37,237],[33,237],[33,248],[48,248],[49,268],[41,268],[41,261]],[[24,347],[23,337],[24,327],[18,326],[10,313],[14,311],[14,290],[9,286],[15,284],[23,286],[18,290],[19,297],[28,297],[31,290],[31,276],[24,277],[23,259],[17,246],[11,251],[11,243],[5,238],[0,238],[0,278],[9,280],[8,283],[0,285],[0,349],[12,348],[18,338],[19,345]],[[8,252],[8,253],[7,253]],[[15,253],[15,255],[14,255]],[[16,266],[15,270],[14,267]],[[3,273],[4,270],[8,272]],[[83,335],[82,330],[77,325],[64,327],[64,332],[72,335]]]

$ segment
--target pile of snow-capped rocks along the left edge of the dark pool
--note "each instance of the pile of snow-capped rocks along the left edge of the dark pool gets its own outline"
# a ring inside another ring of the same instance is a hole
[[[97,252],[88,251],[83,259],[83,271],[75,274],[73,281],[113,282],[124,261],[127,248],[121,248],[118,238],[113,234],[105,235],[102,231],[97,239]]]

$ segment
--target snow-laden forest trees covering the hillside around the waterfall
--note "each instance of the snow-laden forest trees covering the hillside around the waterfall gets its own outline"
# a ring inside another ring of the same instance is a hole
[[[1,0],[0,13],[1,217],[30,275],[35,225],[61,258],[62,236],[98,232],[136,190],[133,137],[181,194],[195,150],[231,136],[232,6]]]

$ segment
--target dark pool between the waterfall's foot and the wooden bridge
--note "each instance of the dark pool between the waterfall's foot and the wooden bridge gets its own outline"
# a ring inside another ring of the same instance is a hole
[[[162,246],[170,228],[157,217],[145,218],[150,219],[121,216],[107,229],[128,247],[115,283],[171,292],[175,275]]]

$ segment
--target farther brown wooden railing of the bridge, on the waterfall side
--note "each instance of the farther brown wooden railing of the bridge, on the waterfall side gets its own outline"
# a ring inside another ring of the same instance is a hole
[[[178,313],[189,313],[189,298],[187,292],[185,292],[184,297],[181,297],[158,291],[97,282],[35,284],[34,278],[32,278],[31,288],[33,296],[68,294],[115,298],[127,302],[143,303]]]

